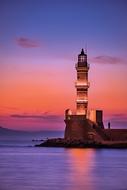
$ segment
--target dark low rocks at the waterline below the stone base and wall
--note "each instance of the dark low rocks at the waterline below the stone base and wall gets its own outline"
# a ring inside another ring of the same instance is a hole
[[[81,141],[65,140],[63,138],[48,139],[36,147],[64,147],[64,148],[126,148],[127,141]]]

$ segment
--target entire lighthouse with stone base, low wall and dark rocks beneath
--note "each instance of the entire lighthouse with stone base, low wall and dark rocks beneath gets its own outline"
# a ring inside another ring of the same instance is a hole
[[[127,129],[108,129],[103,125],[102,110],[88,110],[89,64],[84,50],[78,55],[76,64],[76,113],[65,111],[64,138],[52,138],[36,145],[39,147],[67,148],[125,148],[127,149]]]

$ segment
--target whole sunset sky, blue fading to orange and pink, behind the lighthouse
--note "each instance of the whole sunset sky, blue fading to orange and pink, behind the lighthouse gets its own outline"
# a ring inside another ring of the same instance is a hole
[[[64,130],[87,47],[89,109],[127,128],[126,10],[126,0],[0,0],[0,126]]]

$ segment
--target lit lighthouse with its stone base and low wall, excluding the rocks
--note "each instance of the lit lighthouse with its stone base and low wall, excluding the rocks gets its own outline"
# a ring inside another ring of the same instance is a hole
[[[76,114],[70,109],[65,111],[64,139],[69,141],[127,141],[127,129],[104,129],[103,111],[88,110],[88,82],[89,64],[84,50],[78,55],[76,64]]]

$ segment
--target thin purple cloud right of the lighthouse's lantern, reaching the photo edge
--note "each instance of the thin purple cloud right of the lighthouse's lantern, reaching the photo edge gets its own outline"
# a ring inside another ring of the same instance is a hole
[[[126,60],[108,55],[101,55],[93,58],[93,62],[101,64],[125,64]]]

